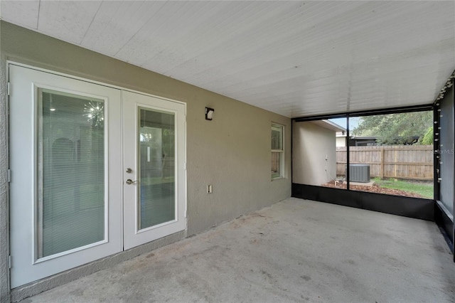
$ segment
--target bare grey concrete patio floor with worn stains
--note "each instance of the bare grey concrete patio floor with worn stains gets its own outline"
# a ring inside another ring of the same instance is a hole
[[[289,198],[22,302],[455,302],[437,225]]]

